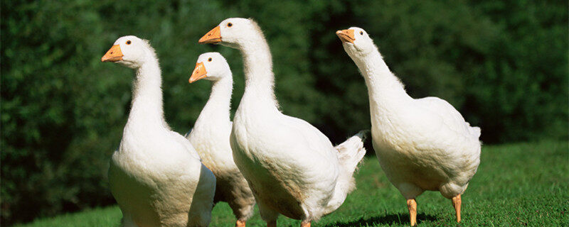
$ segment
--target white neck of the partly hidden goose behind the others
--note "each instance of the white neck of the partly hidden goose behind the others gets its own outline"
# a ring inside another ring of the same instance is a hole
[[[228,76],[211,83],[211,94],[193,126],[194,129],[202,126],[216,127],[220,126],[220,123],[229,122],[232,89],[233,79],[230,72]]]

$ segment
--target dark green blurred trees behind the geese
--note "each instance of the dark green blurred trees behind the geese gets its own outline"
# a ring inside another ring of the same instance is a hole
[[[166,121],[186,133],[208,99],[188,84],[221,52],[243,94],[238,50],[198,45],[229,17],[255,18],[282,111],[340,143],[370,128],[367,89],[334,34],[366,29],[408,93],[439,96],[484,143],[568,139],[568,1],[1,1],[1,222],[114,204],[106,172],[134,72],[100,57],[123,35],[151,41]]]

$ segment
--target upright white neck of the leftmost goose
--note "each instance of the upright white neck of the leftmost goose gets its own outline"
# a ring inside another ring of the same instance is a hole
[[[137,69],[127,126],[134,124],[168,128],[164,120],[161,82],[158,60],[147,54],[147,61]]]

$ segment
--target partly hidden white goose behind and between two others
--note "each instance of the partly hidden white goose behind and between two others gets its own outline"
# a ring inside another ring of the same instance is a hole
[[[213,203],[227,202],[237,218],[235,226],[245,227],[245,222],[253,214],[255,197],[233,161],[229,144],[233,77],[225,58],[218,52],[200,55],[189,82],[193,83],[198,79],[211,81],[211,94],[186,138],[198,151],[203,165],[216,175],[216,196]]]

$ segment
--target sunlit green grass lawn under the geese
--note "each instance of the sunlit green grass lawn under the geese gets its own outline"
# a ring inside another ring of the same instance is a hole
[[[373,151],[368,151],[373,153]],[[358,189],[334,213],[312,226],[408,226],[405,199],[385,178],[376,157],[356,173]],[[419,226],[569,226],[569,143],[488,145],[462,195],[462,222],[454,221],[449,199],[425,192],[417,199]],[[118,226],[117,206],[45,218],[31,226]],[[229,206],[213,209],[210,226],[234,226]],[[278,226],[299,226],[281,216]],[[248,226],[264,226],[258,212]]]

